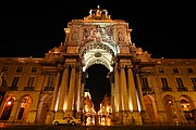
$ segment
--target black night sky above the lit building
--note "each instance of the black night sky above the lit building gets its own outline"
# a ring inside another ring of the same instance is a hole
[[[90,9],[107,9],[133,29],[132,42],[151,57],[195,58],[194,3],[172,0],[4,1],[0,12],[0,57],[44,57],[64,41],[68,22]]]

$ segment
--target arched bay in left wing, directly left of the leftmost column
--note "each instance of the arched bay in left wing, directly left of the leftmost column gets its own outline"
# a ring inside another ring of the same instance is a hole
[[[40,101],[38,104],[37,117],[36,117],[37,122],[41,122],[41,123],[46,122],[47,113],[50,109],[51,101],[52,101],[51,94],[45,94],[40,98]]]

